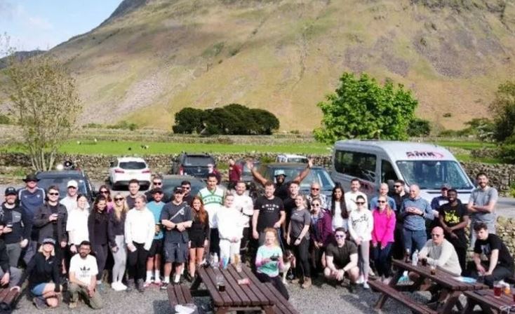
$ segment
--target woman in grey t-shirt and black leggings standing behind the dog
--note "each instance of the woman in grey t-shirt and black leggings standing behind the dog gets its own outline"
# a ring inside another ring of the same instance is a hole
[[[297,267],[295,267],[297,278],[292,280],[292,282],[302,280],[302,288],[307,289],[311,287],[308,232],[311,216],[305,206],[305,197],[298,195],[295,198],[295,209],[291,212],[286,243],[293,248],[293,254],[295,254],[295,259],[297,260]]]

